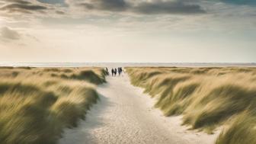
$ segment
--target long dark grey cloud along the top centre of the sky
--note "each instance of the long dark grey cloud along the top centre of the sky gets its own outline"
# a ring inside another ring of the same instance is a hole
[[[98,11],[131,11],[140,14],[200,14],[206,11],[196,4],[188,4],[184,0],[153,2],[126,2],[125,0],[93,0],[78,1],[75,5],[87,10]]]

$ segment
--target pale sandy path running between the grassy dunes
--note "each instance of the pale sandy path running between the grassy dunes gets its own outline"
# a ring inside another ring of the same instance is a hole
[[[164,117],[153,108],[153,100],[141,88],[130,85],[127,75],[107,77],[98,92],[101,101],[85,121],[66,130],[59,144],[84,143],[171,143],[213,144],[215,135],[187,131],[181,117]]]

